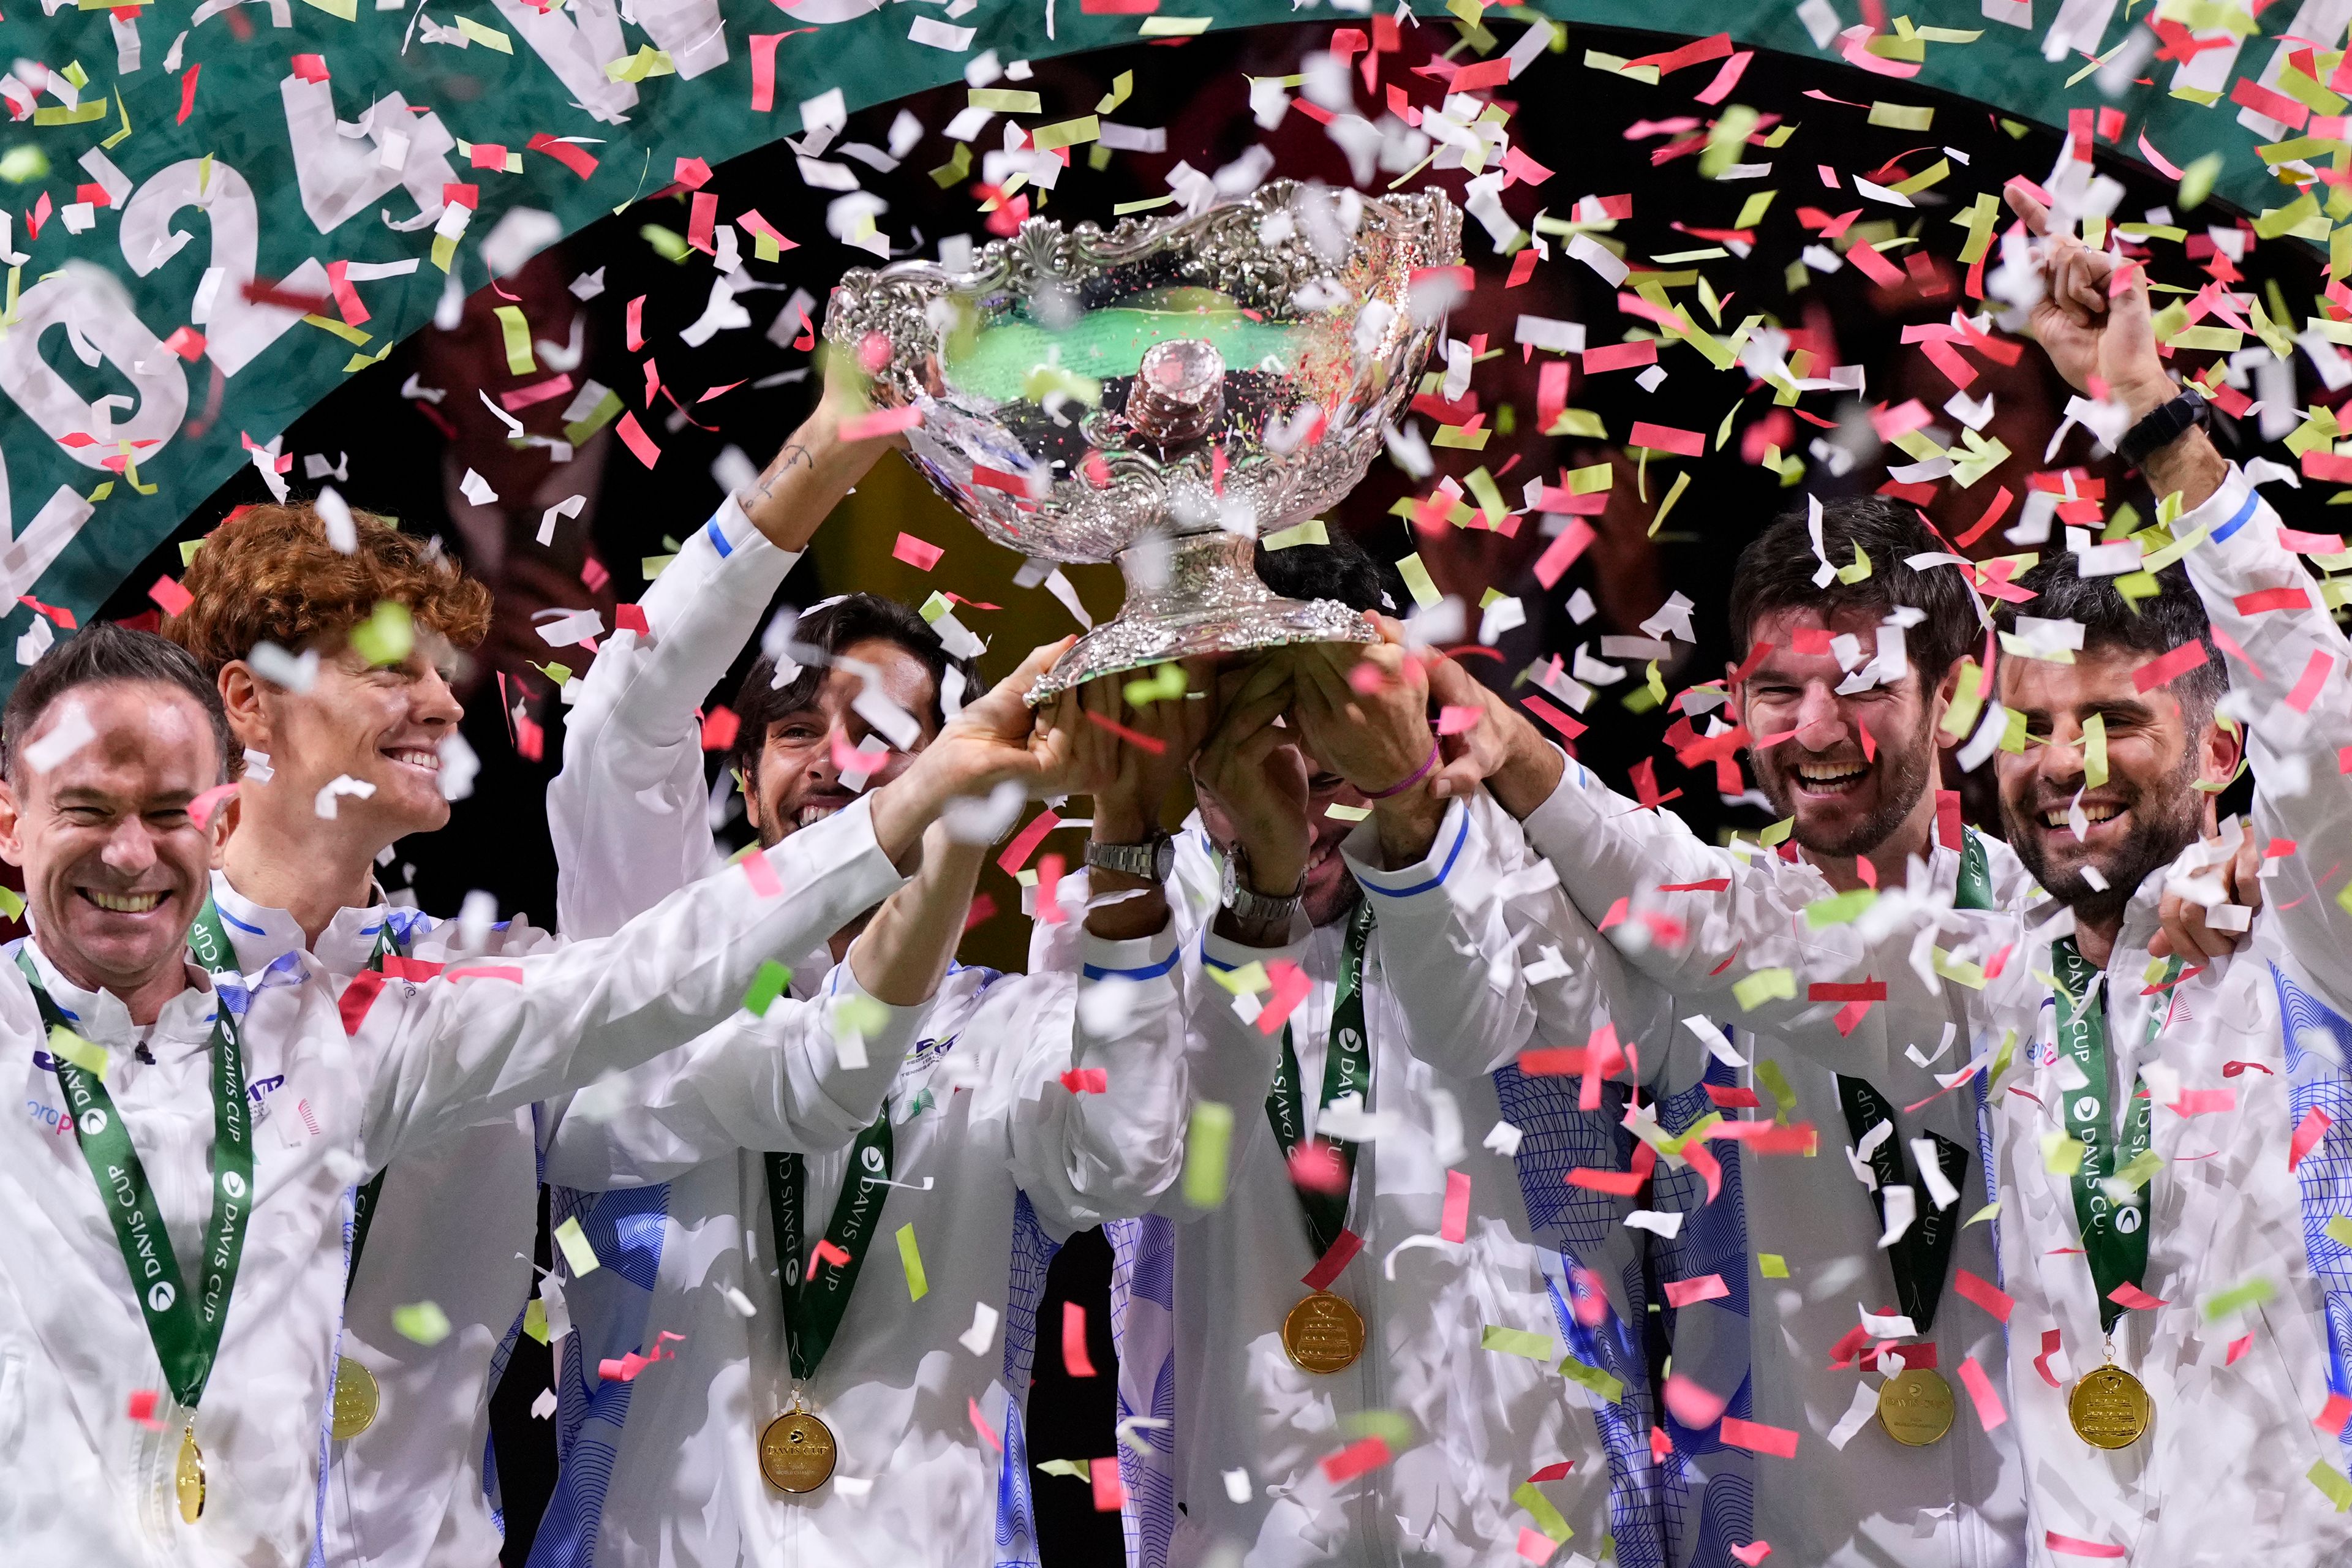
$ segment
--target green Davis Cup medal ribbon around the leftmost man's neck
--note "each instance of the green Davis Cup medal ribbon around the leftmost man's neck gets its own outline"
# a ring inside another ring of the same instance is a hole
[[[212,900],[198,924],[212,922],[209,938],[226,938],[219,931],[219,914]],[[33,959],[19,950],[16,964],[33,983],[33,1001],[40,1004],[40,1020],[52,1030],[73,1032],[64,1011],[40,983]],[[54,1056],[54,1053],[52,1053]],[[56,1081],[66,1091],[73,1112],[73,1135],[89,1164],[89,1175],[99,1182],[99,1201],[115,1225],[115,1246],[122,1248],[122,1265],[132,1276],[132,1293],[139,1295],[139,1312],[146,1314],[148,1340],[162,1363],[172,1399],[195,1408],[212,1378],[212,1363],[221,1354],[221,1328],[228,1324],[228,1298],[238,1286],[238,1262],[245,1255],[245,1225],[254,1208],[254,1140],[245,1107],[245,1044],[228,1013],[226,999],[214,999],[212,1013],[212,1218],[205,1220],[202,1288],[191,1293],[172,1253],[172,1237],[162,1225],[162,1208],[148,1182],[139,1150],[132,1147],[129,1126],[115,1110],[106,1081],[64,1056],[54,1056]]]

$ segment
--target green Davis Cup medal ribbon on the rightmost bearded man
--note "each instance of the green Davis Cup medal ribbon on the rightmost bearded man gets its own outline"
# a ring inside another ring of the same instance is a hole
[[[2082,1225],[2082,1248],[2091,1258],[2091,1286],[2098,1291],[2098,1328],[2114,1333],[2124,1316],[2122,1302],[2110,1300],[2117,1286],[2138,1286],[2147,1276],[2147,1222],[2150,1211],[2143,1192],[2129,1199],[2112,1199],[2105,1180],[2147,1152],[2154,1105],[2150,1095],[2133,1093],[2124,1107],[2124,1138],[2110,1135],[2107,1119],[2107,1004],[2100,999],[2084,1006],[2098,969],[2082,957],[2072,936],[2051,943],[2051,969],[2058,973],[2058,1048],[2082,1067],[2084,1088],[2065,1098],[2065,1131],[2082,1140],[2082,1164],[2074,1166],[2074,1220]],[[2180,959],[2166,969],[2166,980],[2180,973]],[[2147,1039],[2154,1041],[2164,1025],[2164,1004],[2147,1011]]]

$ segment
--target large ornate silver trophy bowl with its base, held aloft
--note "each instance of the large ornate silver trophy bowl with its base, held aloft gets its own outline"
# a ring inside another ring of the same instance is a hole
[[[1028,219],[969,273],[847,273],[826,339],[920,409],[908,447],[988,538],[1120,562],[1127,604],[1030,691],[1197,654],[1369,642],[1284,599],[1256,538],[1345,496],[1444,329],[1461,214],[1437,190],[1275,181],[1178,221]]]

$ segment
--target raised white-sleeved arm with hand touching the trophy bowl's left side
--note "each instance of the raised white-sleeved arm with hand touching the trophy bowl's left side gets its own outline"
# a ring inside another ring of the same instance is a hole
[[[564,936],[609,936],[710,872],[696,710],[760,630],[816,524],[889,447],[840,440],[847,400],[828,378],[760,482],[727,496],[647,588],[647,630],[616,630],[581,677],[564,769],[548,785]]]

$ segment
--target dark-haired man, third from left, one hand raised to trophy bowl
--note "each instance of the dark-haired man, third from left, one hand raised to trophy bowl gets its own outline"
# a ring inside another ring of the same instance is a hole
[[[779,503],[779,520],[800,538],[882,449],[840,442],[844,395],[786,447],[804,454],[786,496],[809,510]],[[548,790],[567,931],[607,929],[715,860],[696,708],[793,559],[731,496],[644,595],[647,632],[597,651]],[[774,623],[731,748],[762,844],[826,832],[955,731],[941,724],[978,642],[941,625],[955,654],[870,595]],[[1211,703],[1136,710],[1120,686],[1051,705],[1075,731],[1065,788],[1091,797],[1096,872],[1077,900],[1084,879],[1056,886],[1040,860],[1030,973],[953,964],[1018,809],[1004,799],[934,832],[880,907],[786,954],[764,1039],[696,1041],[548,1107],[553,1213],[600,1267],[560,1279],[562,1476],[534,1563],[1028,1561],[1047,1260],[1160,1197],[1190,1107],[1160,813]],[[877,973],[891,947],[906,961]],[[663,1333],[684,1335],[675,1363],[600,1378]]]

